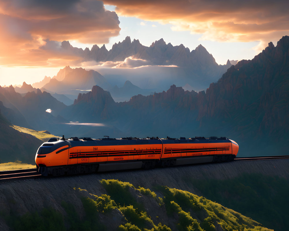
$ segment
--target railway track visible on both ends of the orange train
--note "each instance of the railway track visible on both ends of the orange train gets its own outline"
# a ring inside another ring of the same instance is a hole
[[[272,159],[289,159],[289,155],[286,156],[267,156],[267,157],[236,157],[234,161],[257,161],[257,160],[272,160]],[[40,178],[36,168],[31,169],[18,169],[9,171],[0,171],[0,182],[6,180],[24,180]]]

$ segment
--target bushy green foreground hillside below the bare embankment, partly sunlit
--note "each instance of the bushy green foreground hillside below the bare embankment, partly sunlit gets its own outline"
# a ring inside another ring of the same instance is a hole
[[[16,231],[270,231],[251,218],[188,191],[160,185],[151,191],[119,180],[100,182],[106,194],[93,195],[84,189],[74,188],[72,193],[81,199],[81,206],[64,199],[61,201],[62,211],[42,208],[20,217],[16,211],[2,213],[2,216]]]

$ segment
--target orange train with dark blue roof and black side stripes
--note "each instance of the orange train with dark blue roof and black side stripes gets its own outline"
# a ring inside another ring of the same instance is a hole
[[[51,138],[35,156],[43,176],[232,161],[238,144],[226,137],[186,139]]]

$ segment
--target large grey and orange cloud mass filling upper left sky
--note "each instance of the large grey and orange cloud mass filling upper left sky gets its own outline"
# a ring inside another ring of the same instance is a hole
[[[94,0],[0,1],[0,63],[63,66],[79,59],[60,52],[60,42],[108,43],[118,36],[118,16]]]

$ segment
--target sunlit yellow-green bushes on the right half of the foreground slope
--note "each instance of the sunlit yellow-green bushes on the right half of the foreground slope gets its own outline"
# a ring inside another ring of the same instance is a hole
[[[221,226],[223,230],[268,230],[251,218],[204,197],[168,187],[158,187],[158,189],[164,195],[168,215],[178,215],[179,230],[210,231],[216,230],[216,226]]]

